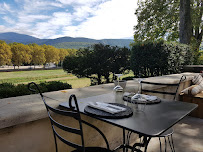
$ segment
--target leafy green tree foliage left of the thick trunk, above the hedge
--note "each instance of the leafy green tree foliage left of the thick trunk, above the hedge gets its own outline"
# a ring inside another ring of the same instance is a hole
[[[135,14],[138,24],[135,29],[135,41],[178,39],[179,2],[177,0],[140,0]]]

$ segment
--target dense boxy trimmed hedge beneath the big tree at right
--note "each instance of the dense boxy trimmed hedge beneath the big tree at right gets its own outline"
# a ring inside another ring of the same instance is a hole
[[[131,51],[131,69],[138,77],[179,73],[182,66],[191,64],[192,60],[190,47],[178,43],[138,42]]]

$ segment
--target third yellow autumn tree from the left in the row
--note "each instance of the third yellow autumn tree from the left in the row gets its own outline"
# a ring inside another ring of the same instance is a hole
[[[35,65],[44,64],[45,59],[45,50],[42,46],[39,46],[37,44],[29,44],[29,47],[32,50],[32,63]]]

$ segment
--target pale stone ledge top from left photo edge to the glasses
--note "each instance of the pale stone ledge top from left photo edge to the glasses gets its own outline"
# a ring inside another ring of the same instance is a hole
[[[113,87],[114,84],[110,83],[43,94],[56,99],[57,101],[47,99],[47,102],[51,106],[57,107],[59,103],[68,101],[71,94],[75,94],[77,98],[80,99],[108,93],[112,91]],[[0,129],[46,117],[48,116],[45,106],[38,94],[0,99]]]

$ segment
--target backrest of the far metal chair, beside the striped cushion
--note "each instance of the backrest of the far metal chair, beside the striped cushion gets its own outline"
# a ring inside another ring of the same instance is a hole
[[[169,95],[175,100],[179,85],[185,79],[186,76],[183,75],[177,83],[159,83],[143,80],[141,81],[141,93],[156,94],[157,96]]]

